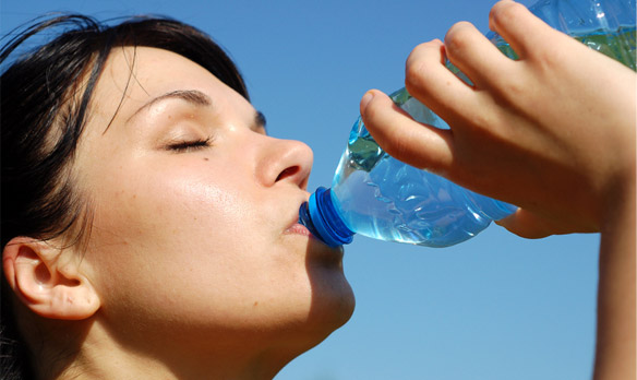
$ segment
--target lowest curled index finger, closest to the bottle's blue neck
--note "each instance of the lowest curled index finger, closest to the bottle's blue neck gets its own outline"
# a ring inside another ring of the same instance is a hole
[[[390,156],[434,173],[450,166],[452,132],[414,121],[382,92],[372,90],[363,96],[361,116],[374,140]]]

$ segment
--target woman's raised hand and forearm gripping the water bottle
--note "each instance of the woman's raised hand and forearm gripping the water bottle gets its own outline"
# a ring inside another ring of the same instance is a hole
[[[594,378],[634,379],[636,74],[513,1],[493,7],[490,27],[519,60],[468,23],[407,60],[407,90],[449,131],[375,90],[361,100],[365,126],[395,157],[519,205],[498,222],[517,235],[601,231]]]

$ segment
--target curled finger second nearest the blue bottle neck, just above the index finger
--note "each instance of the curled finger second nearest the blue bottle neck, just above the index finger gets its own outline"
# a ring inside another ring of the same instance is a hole
[[[444,64],[445,47],[440,40],[417,46],[407,59],[405,85],[409,94],[443,118],[452,128],[461,126],[468,110],[482,104],[471,85]]]

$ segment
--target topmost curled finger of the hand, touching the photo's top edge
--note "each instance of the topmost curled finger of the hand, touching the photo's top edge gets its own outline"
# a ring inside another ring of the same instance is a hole
[[[489,28],[500,34],[520,59],[532,56],[539,46],[546,45],[558,34],[525,5],[510,0],[493,5],[489,14]]]

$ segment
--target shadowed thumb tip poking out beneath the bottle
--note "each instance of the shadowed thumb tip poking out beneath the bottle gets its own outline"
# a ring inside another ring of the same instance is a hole
[[[518,209],[514,214],[495,221],[495,223],[513,234],[528,239],[539,239],[551,235],[573,231],[551,218],[539,216],[525,209]]]

